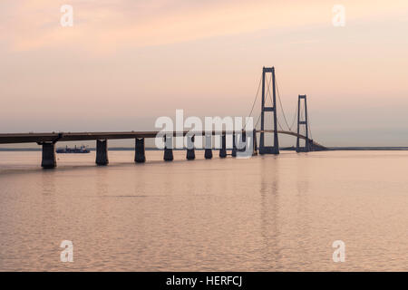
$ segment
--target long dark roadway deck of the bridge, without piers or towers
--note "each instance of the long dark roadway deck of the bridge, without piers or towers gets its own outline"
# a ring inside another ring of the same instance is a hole
[[[13,143],[45,143],[57,141],[79,141],[79,140],[118,140],[136,138],[155,138],[160,131],[118,131],[118,132],[52,132],[52,133],[6,133],[0,134],[0,144]],[[189,131],[183,131],[185,136]],[[273,130],[257,131],[257,133],[273,133]],[[297,137],[296,132],[277,131],[279,134],[286,134]],[[205,131],[193,131],[196,135],[205,135]],[[233,131],[213,131],[212,135],[232,134]],[[173,136],[180,136],[181,132],[173,131]],[[306,140],[306,136],[299,134],[299,138]],[[313,140],[310,140],[313,141]],[[313,144],[324,148],[323,145],[313,141]]]

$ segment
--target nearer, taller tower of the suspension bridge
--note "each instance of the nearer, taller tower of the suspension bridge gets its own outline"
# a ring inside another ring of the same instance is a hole
[[[266,107],[266,88],[265,78],[267,73],[272,74],[272,107]],[[265,112],[273,113],[274,118],[274,145],[265,146]],[[264,67],[262,70],[262,103],[261,103],[261,132],[259,140],[259,154],[279,154],[279,141],[277,139],[277,94],[275,85],[275,67]]]

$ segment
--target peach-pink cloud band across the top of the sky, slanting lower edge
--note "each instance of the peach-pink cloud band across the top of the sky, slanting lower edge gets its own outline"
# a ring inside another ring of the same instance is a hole
[[[398,11],[406,1],[344,1],[347,19]],[[73,5],[73,27],[60,25],[60,7]],[[0,40],[13,51],[74,47],[110,53],[138,47],[262,29],[331,24],[327,1],[156,0],[114,2],[3,0]]]

